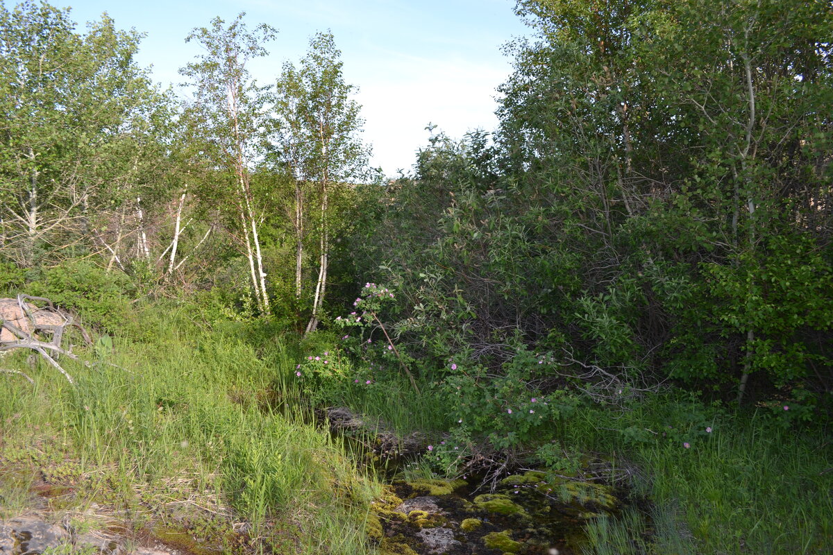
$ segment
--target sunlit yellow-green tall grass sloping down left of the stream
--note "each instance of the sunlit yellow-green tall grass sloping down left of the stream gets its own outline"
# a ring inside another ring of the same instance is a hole
[[[138,320],[150,331],[114,338],[102,364],[65,361],[75,387],[21,355],[4,361],[36,385],[0,375],[0,495],[25,498],[25,480],[8,478],[15,468],[63,465],[67,480],[106,474],[107,494],[122,504],[162,508],[171,495],[207,493],[279,553],[367,553],[363,522],[377,486],[309,424],[289,379],[292,346],[273,341],[256,353],[233,333],[194,325],[187,307]]]

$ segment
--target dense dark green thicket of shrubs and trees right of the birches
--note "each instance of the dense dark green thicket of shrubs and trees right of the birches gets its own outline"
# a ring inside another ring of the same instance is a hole
[[[397,338],[444,379],[531,350],[548,390],[615,376],[826,417],[829,6],[518,11],[539,34],[508,47],[499,129],[431,136],[362,235]]]

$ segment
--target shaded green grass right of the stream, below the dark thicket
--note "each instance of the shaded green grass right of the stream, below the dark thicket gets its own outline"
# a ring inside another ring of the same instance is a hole
[[[591,411],[573,429],[584,448],[636,463],[631,485],[654,505],[642,526],[627,518],[592,524],[601,546],[593,553],[610,553],[631,527],[631,539],[652,534],[636,553],[830,553],[833,473],[824,429],[786,428],[757,412],[724,413],[688,448],[616,431],[659,429],[652,425],[661,410],[656,403],[617,419]]]

